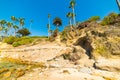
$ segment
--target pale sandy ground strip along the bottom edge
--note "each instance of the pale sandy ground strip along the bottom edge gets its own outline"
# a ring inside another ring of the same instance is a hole
[[[43,72],[36,69],[17,80],[120,80],[119,75],[95,69],[89,72],[89,68],[81,70],[74,68],[51,68]]]

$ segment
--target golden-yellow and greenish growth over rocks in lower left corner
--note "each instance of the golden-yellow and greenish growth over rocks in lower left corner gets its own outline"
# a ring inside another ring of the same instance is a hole
[[[20,59],[2,58],[0,62],[0,80],[16,80],[33,68],[46,68],[44,63],[34,63]]]

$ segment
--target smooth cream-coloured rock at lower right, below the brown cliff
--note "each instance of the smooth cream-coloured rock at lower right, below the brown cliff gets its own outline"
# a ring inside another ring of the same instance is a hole
[[[98,59],[95,63],[96,68],[108,71],[120,71],[120,59]]]

